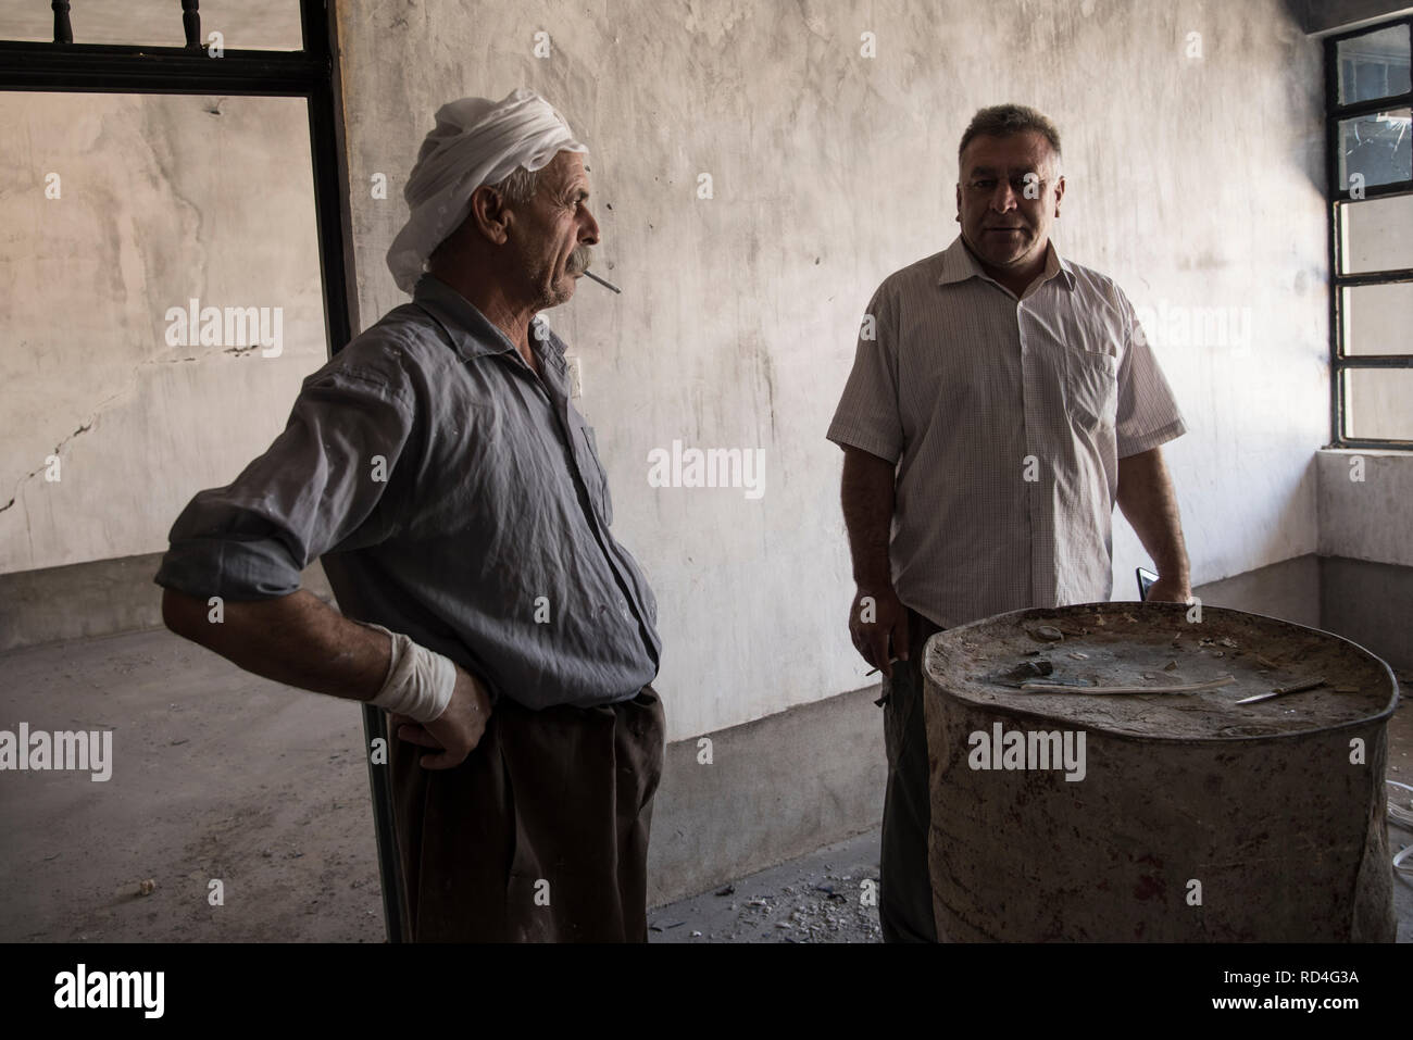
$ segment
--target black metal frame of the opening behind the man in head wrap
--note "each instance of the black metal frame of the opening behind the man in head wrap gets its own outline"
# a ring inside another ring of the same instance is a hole
[[[187,47],[127,44],[34,42],[0,40],[0,90],[65,93],[232,95],[302,98],[309,116],[314,216],[324,285],[324,328],[329,352],[338,353],[357,325],[357,305],[348,287],[356,284],[350,250],[348,168],[343,157],[335,0],[300,0],[300,51],[223,48],[220,58],[199,42],[196,4],[172,1],[172,17],[184,16]],[[68,4],[62,4],[68,7]],[[54,4],[61,30],[61,4]],[[65,34],[66,35],[66,34]],[[82,23],[79,25],[82,37]],[[363,705],[367,748],[387,746],[383,712]],[[369,786],[377,861],[383,882],[383,920],[390,942],[403,941],[401,866],[393,838],[393,801],[386,766],[369,755]]]

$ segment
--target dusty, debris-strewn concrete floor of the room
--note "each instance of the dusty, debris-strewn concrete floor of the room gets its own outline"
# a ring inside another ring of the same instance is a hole
[[[0,675],[0,729],[112,729],[114,759],[106,783],[0,774],[0,941],[383,940],[356,705],[247,675],[165,630],[11,651]],[[1413,783],[1410,749],[1405,701],[1390,779]],[[1390,838],[1397,849],[1413,834]],[[862,899],[876,879],[873,831],[657,907],[650,938],[879,941]],[[1413,879],[1395,897],[1407,942]]]

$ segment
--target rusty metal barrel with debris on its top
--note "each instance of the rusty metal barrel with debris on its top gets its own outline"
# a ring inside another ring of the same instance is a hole
[[[940,940],[1393,941],[1397,682],[1368,650],[1085,603],[941,632],[923,673]]]

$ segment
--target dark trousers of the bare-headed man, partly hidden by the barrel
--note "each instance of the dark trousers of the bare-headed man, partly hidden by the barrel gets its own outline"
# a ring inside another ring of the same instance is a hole
[[[879,861],[879,921],[885,942],[935,942],[927,835],[933,824],[927,729],[923,723],[923,643],[942,629],[909,610],[909,660],[883,678],[887,791]]]

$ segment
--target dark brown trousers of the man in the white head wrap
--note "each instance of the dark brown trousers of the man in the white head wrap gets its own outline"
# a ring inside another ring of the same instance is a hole
[[[666,725],[651,687],[598,708],[506,698],[455,769],[390,740],[413,942],[646,942]]]

